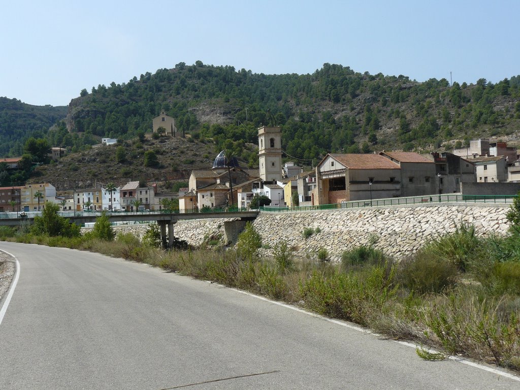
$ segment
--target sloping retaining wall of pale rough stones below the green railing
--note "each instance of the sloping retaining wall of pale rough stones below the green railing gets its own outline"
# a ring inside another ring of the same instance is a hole
[[[509,222],[505,218],[509,206],[493,205],[424,205],[387,207],[383,209],[343,209],[302,213],[261,213],[253,223],[262,236],[269,256],[272,248],[285,240],[296,249],[299,257],[316,257],[319,248],[326,248],[333,261],[339,261],[343,251],[375,241],[374,247],[396,258],[417,252],[432,238],[453,232],[462,223],[475,226],[478,236],[504,235]],[[174,225],[175,236],[198,246],[204,240],[224,240],[226,219],[180,221]],[[305,239],[305,228],[320,228]],[[140,238],[146,225],[114,228],[116,232],[133,232]]]

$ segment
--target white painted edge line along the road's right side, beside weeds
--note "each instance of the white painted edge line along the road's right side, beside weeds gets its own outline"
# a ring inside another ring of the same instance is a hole
[[[219,283],[215,283],[215,284],[219,284]],[[226,287],[223,284],[219,284],[219,285],[222,285],[222,287]],[[239,292],[241,294],[252,296],[252,297],[257,298],[257,299],[262,300],[262,301],[274,303],[275,305],[282,306],[282,307],[285,307],[285,308],[288,308],[288,309],[291,309],[291,310],[294,310],[294,311],[299,311],[300,313],[306,314],[306,315],[311,316],[311,317],[316,317],[316,318],[320,318],[322,320],[326,320],[326,321],[335,323],[335,324],[340,325],[340,326],[345,327],[345,328],[354,329],[354,330],[356,330],[358,332],[361,332],[361,333],[373,334],[375,336],[381,336],[380,334],[374,333],[374,332],[372,332],[372,331],[370,331],[368,329],[364,329],[364,328],[361,328],[361,327],[358,327],[356,325],[352,325],[352,324],[349,324],[347,322],[343,322],[343,321],[340,321],[340,320],[335,320],[333,318],[323,317],[323,316],[321,316],[319,314],[311,313],[310,311],[301,309],[299,307],[288,305],[287,303],[273,301],[273,300],[270,300],[269,298],[266,298],[264,296],[256,295],[256,294],[253,294],[253,293],[250,293],[250,292],[247,292],[247,291],[243,291],[243,290],[239,290],[239,289],[235,289],[235,288],[229,288],[229,289],[233,290],[233,291],[236,291],[236,292]],[[0,321],[1,321],[1,319],[0,319]],[[399,340],[391,340],[391,341],[393,341],[394,343],[405,345],[407,347],[412,347],[414,349],[415,348],[421,348],[420,345],[409,343],[409,342],[406,342],[406,341],[399,341]],[[437,353],[437,351],[435,351],[434,349],[427,349],[427,350],[432,352],[432,353]],[[458,363],[462,363],[462,364],[467,365],[467,366],[475,367],[475,368],[478,368],[480,370],[492,372],[493,374],[501,375],[501,376],[504,376],[505,378],[509,378],[509,379],[514,380],[514,381],[520,382],[520,377],[519,376],[510,374],[509,372],[500,371],[500,370],[494,369],[492,367],[487,367],[487,366],[481,365],[479,363],[475,363],[473,361],[467,360],[467,359],[462,358],[460,356],[448,356],[447,359],[456,361]]]

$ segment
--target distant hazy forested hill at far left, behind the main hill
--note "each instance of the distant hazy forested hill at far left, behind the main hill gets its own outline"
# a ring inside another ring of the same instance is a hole
[[[31,106],[0,97],[0,157],[19,156],[29,137],[42,138],[67,115],[67,107]]]

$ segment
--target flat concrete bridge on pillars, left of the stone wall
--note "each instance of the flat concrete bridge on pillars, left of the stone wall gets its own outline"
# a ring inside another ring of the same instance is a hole
[[[106,213],[110,222],[152,222],[155,221],[161,229],[161,241],[164,248],[171,248],[173,244],[173,226],[179,220],[226,218],[234,219],[224,222],[224,235],[226,241],[236,241],[239,233],[248,221],[253,221],[258,216],[258,211],[236,212],[209,212],[209,213],[160,213],[160,212],[128,212]],[[31,213],[1,213],[0,226],[32,225],[38,212]],[[61,216],[68,218],[71,223],[84,225],[95,223],[101,212],[60,212]],[[167,235],[166,235],[167,229]]]

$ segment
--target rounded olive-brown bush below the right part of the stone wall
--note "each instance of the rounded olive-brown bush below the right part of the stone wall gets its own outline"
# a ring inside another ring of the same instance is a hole
[[[399,264],[399,280],[408,289],[424,293],[440,293],[457,280],[457,267],[447,259],[427,253],[404,259]]]

